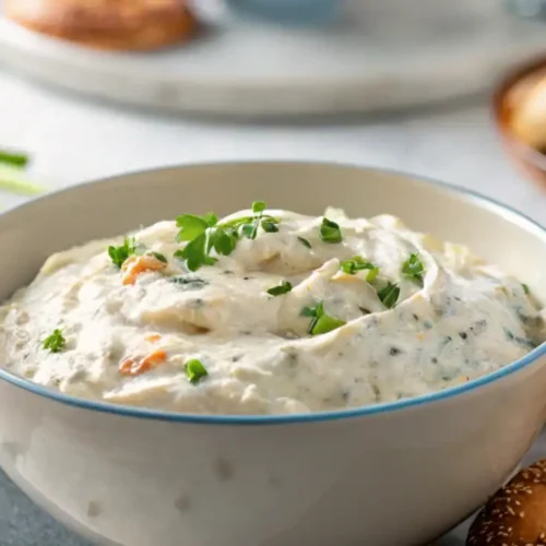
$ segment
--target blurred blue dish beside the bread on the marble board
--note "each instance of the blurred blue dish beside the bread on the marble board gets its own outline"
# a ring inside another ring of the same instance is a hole
[[[237,13],[272,23],[317,25],[335,20],[341,0],[226,0]]]

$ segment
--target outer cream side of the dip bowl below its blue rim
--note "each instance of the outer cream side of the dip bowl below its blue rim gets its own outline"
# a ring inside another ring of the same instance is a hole
[[[545,391],[542,358],[434,411],[203,427],[1,381],[0,464],[66,524],[114,544],[417,545],[503,483],[542,427]]]

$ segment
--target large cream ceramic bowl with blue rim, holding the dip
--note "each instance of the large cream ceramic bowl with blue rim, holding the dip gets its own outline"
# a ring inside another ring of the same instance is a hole
[[[0,297],[45,258],[181,212],[257,199],[321,214],[389,212],[470,245],[546,300],[546,232],[475,194],[396,173],[318,164],[168,168],[84,185],[0,216]],[[75,400],[0,371],[0,464],[102,544],[423,544],[486,500],[546,408],[546,344],[440,393],[344,412],[223,417]]]

